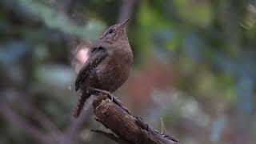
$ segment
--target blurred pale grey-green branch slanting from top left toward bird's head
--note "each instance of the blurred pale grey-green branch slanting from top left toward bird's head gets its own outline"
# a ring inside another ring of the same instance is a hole
[[[102,31],[100,22],[89,22],[84,26],[74,25],[70,18],[52,10],[49,6],[42,5],[40,2],[32,0],[18,0],[20,6],[26,8],[26,12],[36,16],[42,22],[51,28],[61,30],[66,34],[76,35],[78,38],[98,38]],[[94,26],[96,25],[96,26]]]

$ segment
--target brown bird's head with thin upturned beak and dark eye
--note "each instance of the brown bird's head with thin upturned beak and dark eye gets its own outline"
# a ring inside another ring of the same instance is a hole
[[[103,42],[114,43],[119,40],[126,40],[126,25],[129,19],[126,19],[125,22],[121,24],[116,24],[114,26],[110,26],[105,32],[102,34],[102,38],[100,38]]]

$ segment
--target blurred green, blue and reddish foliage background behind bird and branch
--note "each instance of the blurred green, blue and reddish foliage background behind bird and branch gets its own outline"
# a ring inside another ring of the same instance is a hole
[[[0,143],[113,143],[71,117],[77,47],[130,18],[133,114],[186,144],[256,142],[254,0],[1,0]]]

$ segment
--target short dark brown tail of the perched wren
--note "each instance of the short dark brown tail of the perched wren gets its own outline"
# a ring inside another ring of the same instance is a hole
[[[88,98],[90,98],[90,95],[91,95],[91,93],[88,90],[86,90],[85,92],[82,92],[82,94],[80,95],[80,97],[78,99],[77,106],[74,109],[74,113],[73,113],[74,118],[79,117],[79,115],[81,114],[81,111],[83,109],[83,106],[85,105],[86,100]]]

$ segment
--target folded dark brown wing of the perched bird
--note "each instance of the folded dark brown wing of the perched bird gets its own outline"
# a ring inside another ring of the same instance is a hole
[[[98,66],[100,62],[107,56],[107,51],[104,47],[98,46],[91,50],[89,58],[79,71],[78,76],[75,80],[75,91],[78,91],[82,82],[90,75],[90,73]]]

